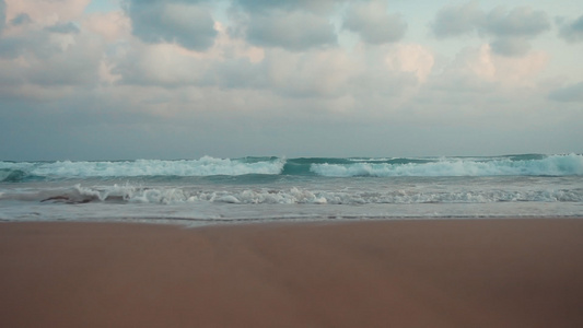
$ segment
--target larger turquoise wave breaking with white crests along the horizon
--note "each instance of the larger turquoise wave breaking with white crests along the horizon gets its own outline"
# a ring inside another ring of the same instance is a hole
[[[0,181],[104,177],[207,176],[569,176],[583,175],[583,155],[508,155],[493,157],[242,157],[137,160],[117,162],[0,162]]]

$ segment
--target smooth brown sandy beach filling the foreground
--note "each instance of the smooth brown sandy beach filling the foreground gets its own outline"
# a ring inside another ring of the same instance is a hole
[[[583,327],[583,220],[1,223],[1,327]]]

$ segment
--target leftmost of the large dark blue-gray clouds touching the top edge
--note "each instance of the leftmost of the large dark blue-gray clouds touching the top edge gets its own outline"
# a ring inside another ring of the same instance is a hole
[[[129,0],[126,10],[132,33],[145,43],[177,43],[205,50],[214,43],[217,31],[210,11],[197,1]]]

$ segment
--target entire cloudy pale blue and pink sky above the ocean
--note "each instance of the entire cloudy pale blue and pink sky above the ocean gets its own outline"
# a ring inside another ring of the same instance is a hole
[[[583,153],[580,0],[0,0],[0,160]]]

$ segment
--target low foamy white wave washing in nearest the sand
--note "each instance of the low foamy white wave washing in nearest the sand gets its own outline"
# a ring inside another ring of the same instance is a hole
[[[236,204],[411,204],[491,202],[583,202],[582,188],[561,189],[474,189],[420,190],[317,190],[313,188],[242,188],[232,190],[191,187],[140,187],[133,185],[75,185],[69,188],[14,192],[0,199],[62,203],[236,203]]]

